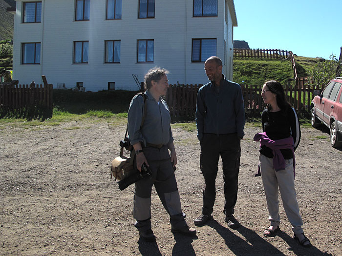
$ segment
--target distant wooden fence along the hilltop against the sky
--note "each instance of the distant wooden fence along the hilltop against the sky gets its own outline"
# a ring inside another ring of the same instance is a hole
[[[290,51],[279,49],[239,49],[234,48],[234,58],[286,59]]]

